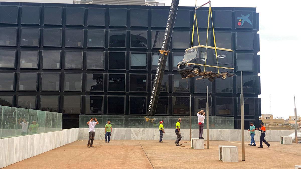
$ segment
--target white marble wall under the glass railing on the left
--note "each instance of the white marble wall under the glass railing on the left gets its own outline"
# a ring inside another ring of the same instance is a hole
[[[78,140],[79,129],[0,139],[0,168]]]

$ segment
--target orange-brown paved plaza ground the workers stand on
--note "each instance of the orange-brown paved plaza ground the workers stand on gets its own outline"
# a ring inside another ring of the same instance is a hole
[[[6,168],[294,168],[301,165],[301,144],[270,142],[270,148],[264,145],[259,149],[245,142],[246,161],[241,161],[241,143],[237,141],[210,141],[209,149],[203,150],[191,149],[191,143],[182,144],[185,147],[175,146],[172,140],[164,143],[95,140],[95,148],[87,148],[87,140],[79,140]],[[219,145],[237,146],[239,161],[219,161]]]

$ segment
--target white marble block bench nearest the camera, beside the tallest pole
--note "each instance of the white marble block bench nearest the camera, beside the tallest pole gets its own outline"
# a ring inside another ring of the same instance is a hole
[[[219,146],[219,160],[223,162],[238,162],[238,147]]]

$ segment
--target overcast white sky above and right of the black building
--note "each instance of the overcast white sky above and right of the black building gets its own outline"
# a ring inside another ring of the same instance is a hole
[[[0,0],[6,2],[73,3],[72,0]],[[172,0],[157,0],[170,6]],[[197,6],[207,0],[197,0]],[[180,0],[180,6],[194,6],[194,0]],[[208,5],[207,5],[208,6]],[[298,63],[301,63],[300,6],[301,1],[263,0],[212,0],[212,7],[256,7],[259,13],[260,69],[262,114],[288,118],[294,115],[294,95],[296,95],[297,115],[301,116],[300,78]],[[299,80],[298,80],[299,79]],[[299,109],[298,109],[299,108]]]

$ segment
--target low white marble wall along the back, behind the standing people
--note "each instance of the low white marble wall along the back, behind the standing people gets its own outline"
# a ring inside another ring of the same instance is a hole
[[[175,140],[175,129],[165,129],[163,140]],[[265,140],[279,141],[279,136],[288,136],[294,131],[270,130],[266,132]],[[205,140],[206,129],[204,129],[203,137]],[[95,140],[104,140],[104,128],[95,129]],[[189,129],[181,129],[182,140],[189,140]],[[153,128],[113,128],[111,134],[112,140],[159,140],[160,134],[158,129]],[[245,141],[250,141],[250,132],[244,131]],[[199,129],[192,129],[192,138],[199,138]],[[259,142],[260,132],[255,131],[255,141]],[[88,140],[88,128],[79,129],[79,140]],[[241,141],[241,130],[222,130],[209,129],[209,140],[216,141]]]

